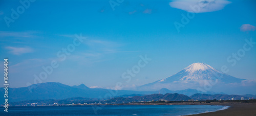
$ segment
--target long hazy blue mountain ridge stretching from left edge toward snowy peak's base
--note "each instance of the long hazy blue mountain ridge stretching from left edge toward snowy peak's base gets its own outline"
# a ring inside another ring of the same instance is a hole
[[[30,89],[31,88],[31,91]],[[160,94],[166,93],[175,93],[184,94],[187,96],[196,94],[196,93],[203,93],[197,91],[195,89],[187,89],[187,90],[180,90],[180,91],[171,91],[168,89],[161,89],[159,90]],[[25,101],[25,100],[63,100],[67,98],[73,97],[84,97],[84,98],[104,98],[105,95],[112,95],[110,97],[117,97],[123,95],[151,95],[157,94],[159,92],[156,91],[132,91],[132,90],[111,90],[111,89],[103,89],[103,88],[89,88],[84,84],[80,84],[78,86],[69,86],[61,83],[56,82],[47,82],[47,83],[40,83],[34,84],[28,87],[20,87],[20,88],[9,88],[8,99],[10,102],[16,101]],[[0,92],[4,94],[4,89],[0,89]],[[214,94],[216,94],[214,92]],[[133,97],[133,96],[130,96]],[[0,99],[3,100],[4,103],[4,96],[0,96]],[[105,98],[107,99],[107,98]],[[1,101],[0,101],[1,102]]]

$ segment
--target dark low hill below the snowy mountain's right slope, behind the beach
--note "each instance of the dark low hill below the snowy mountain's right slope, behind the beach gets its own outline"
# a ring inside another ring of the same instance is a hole
[[[234,100],[241,100],[241,98],[244,96],[239,96],[239,95],[221,95],[221,94],[216,94],[216,95],[208,95],[208,94],[195,94],[190,96],[191,99],[194,100],[231,100],[234,98]],[[244,97],[244,100],[248,100],[248,97]]]

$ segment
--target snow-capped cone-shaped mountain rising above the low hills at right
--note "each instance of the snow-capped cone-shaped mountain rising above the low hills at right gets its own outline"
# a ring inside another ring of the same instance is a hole
[[[245,79],[239,79],[236,77],[232,77],[230,75],[227,75],[225,73],[222,73],[221,71],[218,71],[214,67],[211,67],[208,64],[205,63],[193,63],[184,69],[182,69],[180,72],[155,81],[153,83],[145,84],[140,86],[140,88],[144,89],[154,89],[154,88],[168,88],[173,90],[174,85],[180,86],[180,88],[195,88],[192,87],[195,84],[203,86],[202,83],[205,82],[211,82],[211,83],[241,83]],[[177,87],[176,87],[177,88]]]

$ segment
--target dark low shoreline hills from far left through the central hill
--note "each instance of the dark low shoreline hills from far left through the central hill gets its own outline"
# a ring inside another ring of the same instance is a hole
[[[190,100],[188,96],[180,95],[180,94],[153,94],[153,95],[145,95],[145,96],[134,96],[134,97],[117,97],[108,100],[100,100],[96,98],[83,98],[83,97],[75,97],[75,98],[68,98],[63,100],[27,100],[27,101],[19,101],[19,102],[11,102],[10,105],[30,105],[32,103],[36,103],[38,105],[46,105],[46,104],[77,104],[77,103],[102,103],[102,104],[109,104],[109,103],[129,103],[129,102],[139,102],[139,101],[157,101],[157,100],[167,100],[167,101],[187,101]]]

